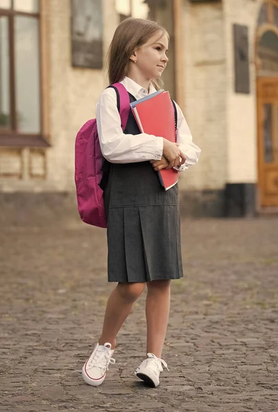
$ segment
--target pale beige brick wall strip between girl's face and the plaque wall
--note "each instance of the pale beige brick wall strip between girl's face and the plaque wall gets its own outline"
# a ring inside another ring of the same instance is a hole
[[[202,149],[199,163],[187,170],[181,187],[218,189],[227,180],[226,68],[221,3],[185,3],[185,117]]]

